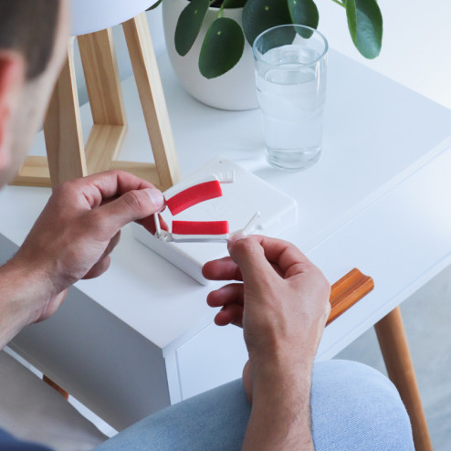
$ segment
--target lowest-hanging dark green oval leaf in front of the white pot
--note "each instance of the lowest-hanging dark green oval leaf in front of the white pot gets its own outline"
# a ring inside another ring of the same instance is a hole
[[[215,19],[206,32],[199,55],[199,70],[214,79],[233,68],[243,55],[245,37],[238,23],[227,17]]]

